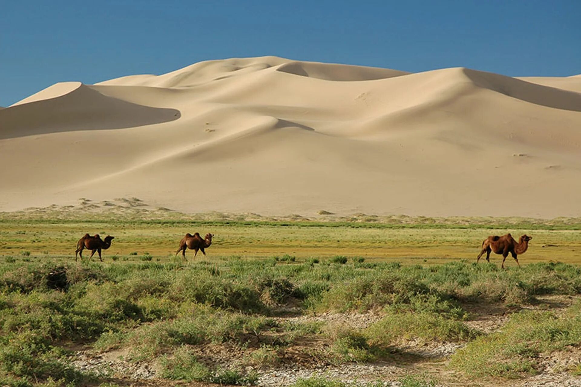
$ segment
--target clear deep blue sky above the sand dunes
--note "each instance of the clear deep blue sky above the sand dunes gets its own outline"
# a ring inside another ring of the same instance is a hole
[[[262,55],[569,76],[581,73],[581,1],[0,0],[0,106],[59,81]]]

